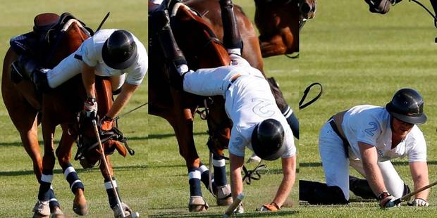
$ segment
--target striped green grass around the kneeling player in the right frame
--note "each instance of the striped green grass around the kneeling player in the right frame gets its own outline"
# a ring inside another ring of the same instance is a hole
[[[317,141],[331,115],[353,105],[385,105],[395,91],[412,87],[424,96],[429,121],[420,128],[428,143],[429,179],[436,181],[437,31],[431,17],[409,1],[392,6],[386,15],[370,13],[364,1],[318,3],[316,18],[300,34],[299,80],[301,85],[321,82],[324,95],[300,113],[299,179],[324,181]],[[412,187],[407,160],[395,160],[394,165]],[[361,202],[351,194],[350,205],[301,205],[299,212],[305,217],[433,217],[436,196],[431,191],[428,208],[380,210],[376,201]]]

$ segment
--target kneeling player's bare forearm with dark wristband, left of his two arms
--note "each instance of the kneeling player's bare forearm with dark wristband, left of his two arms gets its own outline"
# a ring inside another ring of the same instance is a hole
[[[393,206],[388,204],[392,202],[394,198],[393,196],[386,195],[388,192],[384,184],[381,169],[378,167],[378,153],[376,152],[376,147],[358,141],[358,148],[359,153],[361,153],[366,179],[369,182],[371,190],[374,191],[375,195],[379,198],[378,200],[380,200],[381,207]]]

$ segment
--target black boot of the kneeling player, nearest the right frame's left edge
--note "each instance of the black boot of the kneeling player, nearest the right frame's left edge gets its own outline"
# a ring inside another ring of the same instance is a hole
[[[349,203],[338,186],[327,186],[316,181],[299,180],[299,200],[311,205],[344,205]]]

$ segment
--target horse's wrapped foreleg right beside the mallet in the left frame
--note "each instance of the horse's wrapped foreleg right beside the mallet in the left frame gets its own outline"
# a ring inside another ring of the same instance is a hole
[[[112,168],[110,156],[105,155],[105,158],[106,158],[108,169],[106,169],[103,160],[101,160],[100,172],[104,178],[104,186],[106,189],[106,193],[108,194],[109,207],[111,207],[111,209],[113,210],[114,217],[123,217],[123,213],[125,217],[127,217],[132,213],[132,210],[130,210],[130,207],[125,203],[123,203],[121,200],[120,191],[118,190],[117,180],[116,177],[114,177],[113,175],[113,168]],[[118,205],[117,198],[118,200],[120,200],[121,207],[123,207],[123,210],[120,210],[120,205]]]

